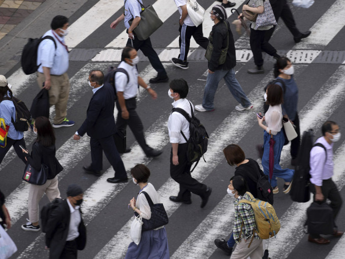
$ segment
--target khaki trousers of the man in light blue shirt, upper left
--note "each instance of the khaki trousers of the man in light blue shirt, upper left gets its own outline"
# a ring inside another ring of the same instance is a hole
[[[42,89],[42,84],[45,82],[44,74],[37,73],[37,82]],[[67,101],[70,95],[70,79],[67,73],[61,76],[50,75],[51,87],[49,89],[49,104],[55,105],[55,118],[53,123],[60,124],[67,116]]]

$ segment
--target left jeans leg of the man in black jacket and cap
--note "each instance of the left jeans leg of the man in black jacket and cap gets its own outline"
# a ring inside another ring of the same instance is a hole
[[[215,100],[216,90],[220,80],[223,79],[226,73],[227,70],[216,70],[214,73],[208,74],[202,99],[204,109],[211,111],[215,108],[213,101]]]

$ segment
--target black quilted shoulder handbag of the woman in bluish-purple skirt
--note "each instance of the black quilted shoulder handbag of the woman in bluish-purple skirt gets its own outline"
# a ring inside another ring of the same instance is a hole
[[[159,228],[160,226],[166,225],[169,222],[169,219],[164,209],[164,205],[162,203],[153,204],[148,193],[146,191],[142,191],[142,193],[144,193],[146,200],[151,208],[151,218],[143,218],[142,231],[154,230]],[[135,216],[139,215],[136,212],[134,214]]]

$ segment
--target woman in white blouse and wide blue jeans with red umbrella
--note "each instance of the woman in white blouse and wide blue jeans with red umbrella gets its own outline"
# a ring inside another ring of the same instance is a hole
[[[282,103],[283,103],[283,89],[277,84],[268,85],[265,94],[266,104],[269,105],[265,116],[261,119],[258,117],[259,126],[264,130],[264,151],[261,159],[263,172],[269,175],[269,139],[272,136],[275,141],[274,144],[274,167],[271,185],[273,187],[273,193],[278,193],[279,188],[277,186],[277,177],[283,178],[285,183],[283,192],[288,193],[291,189],[291,181],[293,178],[294,170],[289,168],[282,169],[279,165],[282,149],[285,142],[284,133],[282,131]],[[266,125],[263,124],[266,122]]]

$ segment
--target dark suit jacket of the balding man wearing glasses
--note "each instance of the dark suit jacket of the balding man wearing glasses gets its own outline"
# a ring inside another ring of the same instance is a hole
[[[116,133],[114,118],[114,90],[103,85],[93,95],[86,111],[86,119],[78,134],[95,139],[106,138]]]

